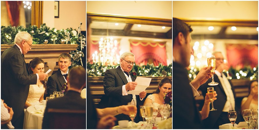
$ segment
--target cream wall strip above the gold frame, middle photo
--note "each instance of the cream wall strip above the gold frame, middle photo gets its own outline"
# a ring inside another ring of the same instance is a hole
[[[172,1],[87,1],[87,12],[172,19]]]

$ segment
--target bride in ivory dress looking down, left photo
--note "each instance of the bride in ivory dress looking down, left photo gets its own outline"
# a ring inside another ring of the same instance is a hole
[[[39,72],[44,72],[44,61],[38,57],[33,58],[29,63],[30,74],[37,74]],[[28,108],[31,105],[39,104],[43,99],[44,93],[46,91],[46,83],[43,80],[39,80],[37,84],[31,84],[29,88],[28,97],[24,108]]]

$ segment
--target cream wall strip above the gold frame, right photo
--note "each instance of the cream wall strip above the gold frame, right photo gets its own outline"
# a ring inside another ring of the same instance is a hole
[[[258,1],[173,1],[173,17],[192,20],[258,20]]]

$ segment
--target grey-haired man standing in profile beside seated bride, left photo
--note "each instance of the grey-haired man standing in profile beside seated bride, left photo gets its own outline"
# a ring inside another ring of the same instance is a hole
[[[23,129],[24,105],[28,97],[29,85],[44,80],[47,74],[29,74],[24,54],[31,50],[33,37],[20,31],[16,34],[12,47],[1,54],[1,99],[13,108],[12,124],[15,129]],[[2,129],[7,127],[2,126]]]

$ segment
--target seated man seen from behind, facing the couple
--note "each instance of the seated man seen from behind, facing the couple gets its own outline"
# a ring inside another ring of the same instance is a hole
[[[47,112],[49,108],[86,111],[86,101],[80,96],[82,88],[86,85],[86,71],[83,67],[77,66],[71,68],[68,74],[68,92],[63,97],[47,101],[42,129],[49,129],[49,113]]]

